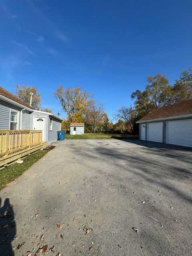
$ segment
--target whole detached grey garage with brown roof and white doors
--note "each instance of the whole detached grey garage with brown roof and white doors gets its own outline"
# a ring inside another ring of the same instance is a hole
[[[192,147],[192,100],[158,108],[137,123],[140,140]]]

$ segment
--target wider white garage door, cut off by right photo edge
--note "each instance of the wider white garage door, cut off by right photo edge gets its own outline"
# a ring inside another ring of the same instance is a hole
[[[166,122],[166,143],[192,147],[192,119]]]

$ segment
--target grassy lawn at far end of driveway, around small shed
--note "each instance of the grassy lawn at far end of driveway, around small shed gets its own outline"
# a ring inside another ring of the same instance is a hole
[[[86,139],[137,139],[138,135],[125,135],[122,137],[121,134],[105,134],[105,133],[86,133],[83,135],[70,135],[66,134],[66,139],[67,140],[86,140]]]

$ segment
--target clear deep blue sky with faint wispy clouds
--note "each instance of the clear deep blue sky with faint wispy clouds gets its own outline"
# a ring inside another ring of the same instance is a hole
[[[36,86],[55,113],[57,86],[80,86],[111,118],[148,76],[192,66],[192,1],[0,0],[0,35],[0,86]]]

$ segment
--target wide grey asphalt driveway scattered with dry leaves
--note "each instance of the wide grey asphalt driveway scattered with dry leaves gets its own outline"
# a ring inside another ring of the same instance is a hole
[[[192,254],[190,148],[136,140],[54,145],[0,192],[0,255],[43,255],[40,248],[52,256]]]

